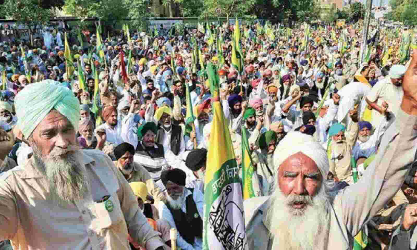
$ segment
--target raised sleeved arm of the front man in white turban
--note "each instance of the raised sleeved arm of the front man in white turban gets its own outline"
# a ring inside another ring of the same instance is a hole
[[[379,153],[358,183],[334,200],[347,230],[356,235],[364,223],[384,207],[399,190],[416,152],[413,126],[417,122],[417,50],[402,83],[404,96],[394,123],[382,137]]]

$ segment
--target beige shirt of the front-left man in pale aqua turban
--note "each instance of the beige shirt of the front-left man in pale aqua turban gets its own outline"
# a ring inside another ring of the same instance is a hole
[[[128,234],[147,250],[163,243],[141,213],[136,196],[113,162],[99,150],[80,150],[90,192],[83,202],[58,206],[48,200],[45,177],[33,158],[0,179],[0,240],[13,249],[128,250]],[[110,195],[106,202],[97,202]]]

